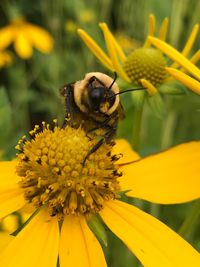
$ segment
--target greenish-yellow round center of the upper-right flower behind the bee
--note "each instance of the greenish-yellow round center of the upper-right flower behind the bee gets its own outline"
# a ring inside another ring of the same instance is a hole
[[[161,84],[166,78],[166,61],[162,53],[154,48],[139,48],[124,62],[124,70],[133,83],[146,79],[153,85]]]

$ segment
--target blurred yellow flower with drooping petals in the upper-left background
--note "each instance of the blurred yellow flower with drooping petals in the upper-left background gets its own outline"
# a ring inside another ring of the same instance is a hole
[[[18,18],[0,29],[0,50],[11,43],[14,43],[17,54],[27,59],[32,56],[33,47],[42,53],[49,53],[53,47],[53,38],[43,28]]]

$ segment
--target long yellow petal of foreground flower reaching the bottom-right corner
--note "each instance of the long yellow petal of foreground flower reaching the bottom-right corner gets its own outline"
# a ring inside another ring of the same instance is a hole
[[[200,255],[151,215],[121,201],[109,201],[100,215],[145,267],[200,266]]]

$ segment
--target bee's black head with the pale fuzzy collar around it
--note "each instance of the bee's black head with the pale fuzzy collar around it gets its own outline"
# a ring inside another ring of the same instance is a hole
[[[100,72],[86,74],[84,80],[76,83],[74,93],[78,107],[83,112],[112,114],[119,105],[119,95],[116,95],[119,87],[115,80]]]

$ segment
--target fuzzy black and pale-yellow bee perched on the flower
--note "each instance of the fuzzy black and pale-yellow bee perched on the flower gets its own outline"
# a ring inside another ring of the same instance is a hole
[[[66,84],[60,89],[66,105],[64,126],[81,126],[87,135],[100,137],[86,159],[103,143],[113,143],[118,121],[125,117],[116,79],[116,73],[111,78],[101,72],[90,72],[83,80]],[[126,91],[130,90],[134,89]]]

